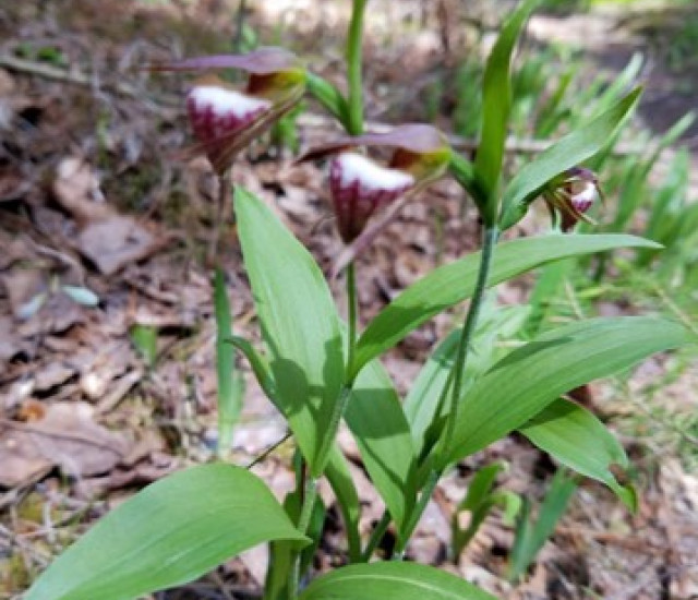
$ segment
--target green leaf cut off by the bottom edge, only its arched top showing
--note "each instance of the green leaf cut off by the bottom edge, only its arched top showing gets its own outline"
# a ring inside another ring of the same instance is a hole
[[[350,565],[315,579],[298,600],[494,600],[445,571],[417,563]]]

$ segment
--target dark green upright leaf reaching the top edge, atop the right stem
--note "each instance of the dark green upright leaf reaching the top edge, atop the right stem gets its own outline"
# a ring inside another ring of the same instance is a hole
[[[509,16],[488,58],[482,84],[482,131],[476,156],[476,177],[484,189],[485,223],[496,218],[497,188],[504,158],[509,112],[512,111],[512,77],[509,69],[516,40],[524,23],[538,0],[525,0]]]

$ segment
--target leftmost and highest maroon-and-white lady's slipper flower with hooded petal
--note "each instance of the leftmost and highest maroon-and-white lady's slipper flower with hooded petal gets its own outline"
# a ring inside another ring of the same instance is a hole
[[[239,91],[210,71],[240,69],[249,74]],[[157,71],[207,71],[186,95],[194,134],[214,170],[222,175],[240,149],[268,129],[300,100],[305,70],[282,48],[260,48],[248,55],[221,55],[156,64]]]

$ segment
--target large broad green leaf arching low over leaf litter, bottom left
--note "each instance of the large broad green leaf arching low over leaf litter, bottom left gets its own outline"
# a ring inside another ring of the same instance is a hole
[[[305,540],[255,476],[230,465],[171,475],[119,505],[36,580],[26,600],[130,600],[191,581],[269,540]]]

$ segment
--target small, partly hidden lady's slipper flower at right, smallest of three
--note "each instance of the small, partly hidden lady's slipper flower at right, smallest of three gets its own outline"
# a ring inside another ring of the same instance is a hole
[[[599,179],[593,171],[583,167],[567,169],[543,191],[549,207],[561,214],[563,231],[568,231],[579,220],[593,223],[586,213],[600,197]]]

